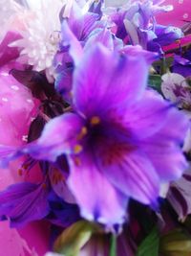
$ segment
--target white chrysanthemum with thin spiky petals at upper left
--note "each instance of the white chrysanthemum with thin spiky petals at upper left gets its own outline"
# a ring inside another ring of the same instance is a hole
[[[45,70],[48,77],[53,75],[53,57],[60,40],[59,12],[67,3],[68,0],[28,0],[30,11],[25,11],[27,18],[23,13],[25,29],[20,31],[23,38],[11,44],[23,48],[20,61],[36,71]]]

